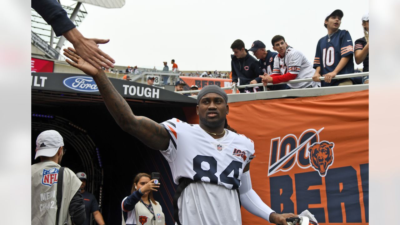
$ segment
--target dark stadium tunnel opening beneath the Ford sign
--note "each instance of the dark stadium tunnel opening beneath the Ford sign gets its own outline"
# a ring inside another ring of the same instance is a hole
[[[135,115],[146,116],[158,123],[173,117],[186,121],[182,105],[179,104],[130,103],[130,106],[133,108]],[[188,105],[186,104],[185,106]],[[195,107],[190,106],[190,110],[191,108],[194,112]],[[53,118],[39,115],[50,115]],[[92,184],[88,184],[88,188],[93,190],[93,194],[99,201],[99,189],[102,186],[101,209],[106,224],[121,224],[121,201],[124,197],[130,195],[134,176],[141,172],[149,174],[158,172],[161,174],[160,183],[162,183],[162,186],[158,192],[154,192],[154,198],[163,209],[166,224],[174,224],[172,197],[174,196],[176,185],[173,183],[168,162],[159,151],[148,148],[135,137],[122,131],[103,102],[90,104],[67,104],[64,102],[40,104],[37,101],[32,101],[32,164],[40,161],[40,159],[34,160],[36,137],[42,131],[48,129],[57,130],[56,126],[51,125],[54,123],[52,120],[55,118],[70,121],[70,123],[78,127],[65,123],[64,125],[58,125],[59,129],[63,127],[63,129],[75,133],[76,137],[86,135],[88,136],[86,139],[89,138],[93,142],[91,148],[94,150],[89,155],[92,157],[91,162],[94,169],[92,174],[89,173],[88,176],[93,176],[94,174],[96,179],[92,181]],[[79,128],[86,131],[86,133],[79,130]],[[71,145],[71,142],[74,141],[76,142],[76,140],[64,137],[64,145],[67,152],[62,159],[61,166],[68,167],[75,173],[80,171],[88,173],[88,171],[85,171],[88,166],[86,165],[85,167],[85,162],[81,159],[82,153],[78,153]],[[96,147],[98,148],[102,168],[99,165]],[[100,171],[98,171],[99,169]],[[90,182],[90,177],[88,179]]]

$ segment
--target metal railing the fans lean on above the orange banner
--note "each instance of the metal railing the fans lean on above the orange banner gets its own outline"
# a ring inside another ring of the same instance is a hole
[[[342,75],[336,75],[334,78],[332,78],[332,80],[359,77],[359,76],[368,76],[368,75],[369,75],[369,72],[342,74]],[[325,77],[324,76],[320,76],[320,80],[325,80]],[[282,82],[282,83],[279,83],[279,84],[293,84],[293,83],[308,82],[308,81],[313,81],[313,80],[312,80],[312,78],[304,78],[304,79],[297,79],[297,80],[289,80],[288,82]],[[272,86],[272,85],[275,85],[275,84],[272,84],[272,83],[268,83],[267,84],[267,86]],[[223,87],[222,90],[232,89],[232,93],[236,93],[237,89],[246,88],[246,87],[256,87],[256,86],[264,86],[264,84],[263,83],[257,83],[257,84],[246,84],[246,85],[239,85],[239,86],[232,85],[230,87]],[[264,91],[267,91],[265,86],[264,86]],[[177,91],[177,93],[181,93],[181,94],[196,93],[196,92],[200,92],[200,90]]]

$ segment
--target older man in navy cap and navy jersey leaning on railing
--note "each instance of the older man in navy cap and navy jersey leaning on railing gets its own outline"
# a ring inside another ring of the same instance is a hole
[[[256,40],[251,45],[249,49],[250,52],[253,52],[253,55],[256,56],[258,62],[260,63],[261,70],[264,74],[271,75],[272,68],[274,68],[274,59],[278,54],[276,52],[271,52],[270,50],[265,50],[265,44],[260,40]],[[290,89],[287,84],[276,84],[268,87],[268,90],[285,90]]]

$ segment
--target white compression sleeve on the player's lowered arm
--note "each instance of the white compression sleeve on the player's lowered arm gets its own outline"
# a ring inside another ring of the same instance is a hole
[[[270,214],[275,211],[268,207],[252,189],[250,171],[243,173],[240,178],[242,184],[239,187],[239,193],[242,206],[253,215],[261,217],[269,222]]]

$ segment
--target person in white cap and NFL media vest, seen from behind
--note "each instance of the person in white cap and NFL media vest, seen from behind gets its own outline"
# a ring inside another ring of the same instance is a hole
[[[31,166],[32,225],[56,224],[58,171],[65,152],[64,140],[57,131],[43,131],[36,139],[35,159],[40,157],[40,163]],[[71,222],[81,225],[86,217],[79,191],[82,182],[68,168],[64,169],[62,178],[62,202],[56,225]]]

